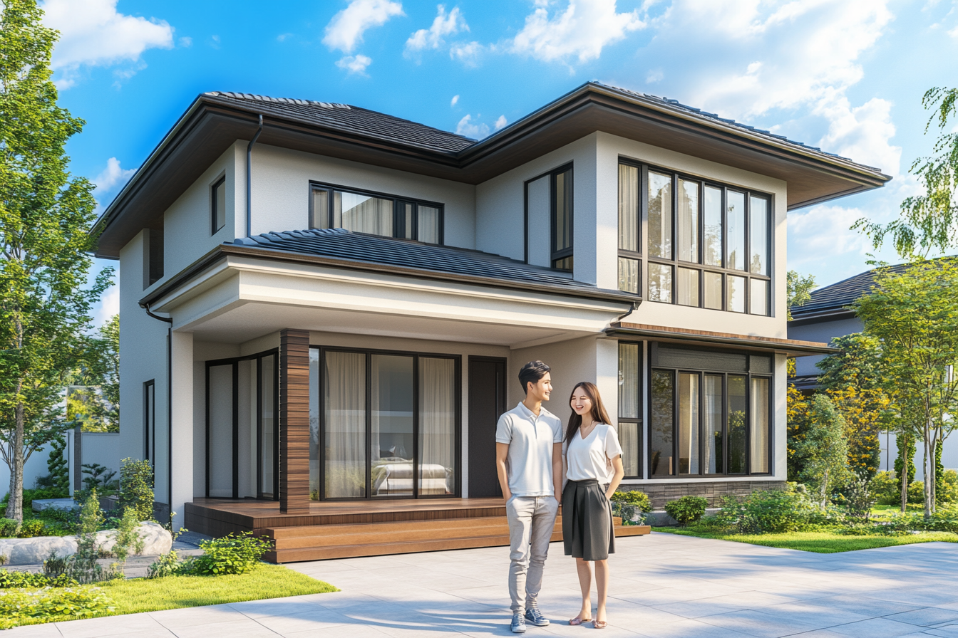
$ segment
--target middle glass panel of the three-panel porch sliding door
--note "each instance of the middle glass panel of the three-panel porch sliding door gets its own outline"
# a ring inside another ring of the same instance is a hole
[[[413,495],[413,358],[372,355],[371,490],[374,496]]]

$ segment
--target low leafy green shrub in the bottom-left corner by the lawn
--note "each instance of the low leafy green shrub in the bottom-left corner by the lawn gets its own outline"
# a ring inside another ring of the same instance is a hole
[[[37,591],[0,591],[0,627],[15,627],[25,620],[71,620],[113,611],[99,587],[44,587]]]

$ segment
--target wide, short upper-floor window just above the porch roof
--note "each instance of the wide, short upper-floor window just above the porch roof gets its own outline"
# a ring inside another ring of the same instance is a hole
[[[309,228],[346,229],[443,243],[443,205],[379,193],[313,185]]]

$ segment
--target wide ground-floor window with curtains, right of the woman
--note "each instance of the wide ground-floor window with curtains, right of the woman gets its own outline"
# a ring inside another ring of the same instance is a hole
[[[651,350],[650,476],[771,473],[771,357]]]

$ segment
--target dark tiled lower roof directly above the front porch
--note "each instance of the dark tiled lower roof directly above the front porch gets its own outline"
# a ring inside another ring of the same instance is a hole
[[[571,297],[599,298],[638,304],[642,297],[618,290],[605,290],[576,281],[567,273],[533,266],[498,254],[471,251],[450,246],[422,244],[343,229],[265,232],[250,238],[224,242],[216,251],[178,277],[151,291],[141,303],[152,303],[183,280],[220,259],[223,254],[265,257],[279,261],[307,262],[315,265],[441,279],[465,284],[483,284],[502,288],[559,294]]]

